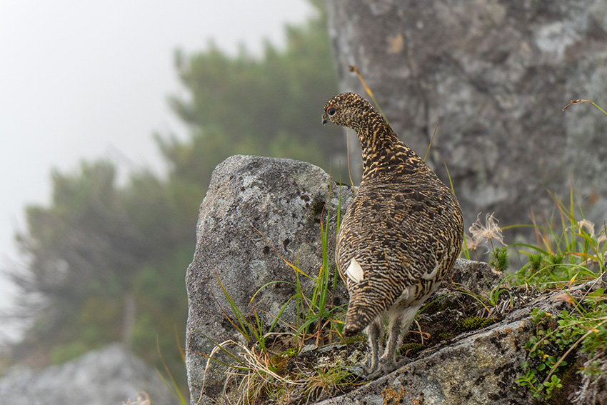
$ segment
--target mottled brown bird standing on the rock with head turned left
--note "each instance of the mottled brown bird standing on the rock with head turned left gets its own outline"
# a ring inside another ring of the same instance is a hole
[[[341,221],[336,261],[350,293],[343,334],[366,329],[373,377],[396,369],[403,335],[461,251],[463,219],[451,190],[366,99],[333,97],[327,122],[356,131],[363,152],[363,178]],[[378,359],[386,316],[389,339]]]

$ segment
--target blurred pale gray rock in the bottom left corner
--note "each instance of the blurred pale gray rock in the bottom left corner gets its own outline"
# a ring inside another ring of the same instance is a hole
[[[156,404],[176,404],[155,369],[113,344],[42,371],[11,369],[0,379],[0,404],[121,405],[146,391]]]

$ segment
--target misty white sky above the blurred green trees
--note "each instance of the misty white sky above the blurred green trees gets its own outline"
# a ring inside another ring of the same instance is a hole
[[[152,134],[186,134],[166,102],[184,94],[175,49],[213,39],[259,54],[311,13],[306,0],[2,0],[0,268],[16,258],[24,206],[49,203],[51,168],[106,157],[164,171]],[[0,279],[0,307],[7,291]]]

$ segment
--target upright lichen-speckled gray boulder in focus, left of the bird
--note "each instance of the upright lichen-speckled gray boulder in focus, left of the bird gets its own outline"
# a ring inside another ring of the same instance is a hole
[[[225,369],[213,364],[206,373],[206,396],[201,397],[206,366],[201,354],[211,354],[211,340],[244,341],[224,315],[239,324],[217,280],[243,314],[251,316],[256,309],[264,325],[271,325],[296,293],[295,271],[281,256],[317,276],[322,266],[321,215],[326,224],[330,209],[328,256],[333,269],[339,197],[349,201],[352,194],[351,187],[336,185],[322,169],[291,159],[232,156],[216,167],[201,205],[196,253],[186,277],[186,365],[192,404],[216,397],[226,379]],[[345,209],[342,203],[341,215]],[[311,291],[313,281],[299,278],[304,291]],[[268,286],[272,281],[291,284]],[[347,299],[345,291],[340,298]],[[281,316],[286,324],[295,324],[295,304],[291,301]],[[288,329],[286,324],[277,324],[274,331]]]

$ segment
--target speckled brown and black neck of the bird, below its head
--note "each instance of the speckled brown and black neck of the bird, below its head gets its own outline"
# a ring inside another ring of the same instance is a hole
[[[423,160],[398,139],[386,120],[376,111],[368,111],[368,123],[354,129],[363,151],[363,181],[389,174],[412,174],[427,167]]]

